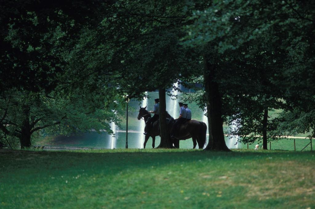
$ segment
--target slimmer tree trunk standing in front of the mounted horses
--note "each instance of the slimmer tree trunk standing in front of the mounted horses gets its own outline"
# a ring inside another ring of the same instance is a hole
[[[160,99],[160,129],[161,129],[161,142],[157,148],[172,148],[172,142],[169,138],[169,132],[166,125],[166,99],[165,99],[165,89],[159,88],[158,91]]]

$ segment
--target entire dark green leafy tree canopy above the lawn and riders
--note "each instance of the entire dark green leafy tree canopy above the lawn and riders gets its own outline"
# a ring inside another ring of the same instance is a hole
[[[36,131],[109,131],[109,122],[119,122],[123,95],[140,100],[178,79],[185,86],[201,83],[209,73],[203,57],[215,66],[222,118],[238,123],[234,134],[243,140],[261,133],[266,108],[285,110],[268,121],[269,137],[314,130],[314,1],[1,5],[6,135],[18,137],[16,127],[26,118],[31,125],[40,119]],[[204,93],[198,89],[183,99],[204,109]]]

